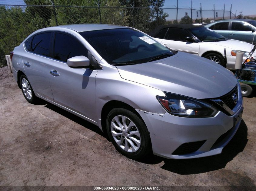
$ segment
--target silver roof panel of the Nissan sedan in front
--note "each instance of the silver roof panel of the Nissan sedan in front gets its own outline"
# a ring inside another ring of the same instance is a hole
[[[54,26],[59,28],[68,28],[75,30],[76,32],[85,32],[85,31],[92,31],[92,30],[104,30],[104,29],[117,29],[117,28],[130,28],[120,25],[114,24],[70,24],[70,25],[60,25]],[[45,28],[46,30],[51,30],[53,27]]]

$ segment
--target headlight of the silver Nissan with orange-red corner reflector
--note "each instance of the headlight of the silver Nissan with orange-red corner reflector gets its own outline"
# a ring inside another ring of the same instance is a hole
[[[168,113],[181,117],[213,117],[218,110],[209,103],[164,92],[166,97],[156,96]]]

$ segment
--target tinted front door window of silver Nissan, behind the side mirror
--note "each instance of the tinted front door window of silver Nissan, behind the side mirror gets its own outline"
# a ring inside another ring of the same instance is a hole
[[[88,57],[88,50],[75,37],[55,33],[54,59],[67,62],[74,56]]]

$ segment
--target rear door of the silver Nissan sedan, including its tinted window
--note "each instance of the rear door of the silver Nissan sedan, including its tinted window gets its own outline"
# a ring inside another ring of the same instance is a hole
[[[23,57],[23,67],[33,90],[40,96],[53,101],[48,70],[51,38],[51,31],[42,32],[25,42],[27,52]]]

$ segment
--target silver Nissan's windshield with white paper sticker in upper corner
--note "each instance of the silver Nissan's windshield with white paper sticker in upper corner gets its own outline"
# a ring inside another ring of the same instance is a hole
[[[168,57],[174,54],[151,37],[134,29],[94,30],[80,34],[102,58],[113,65],[145,63],[161,59],[163,55]]]

